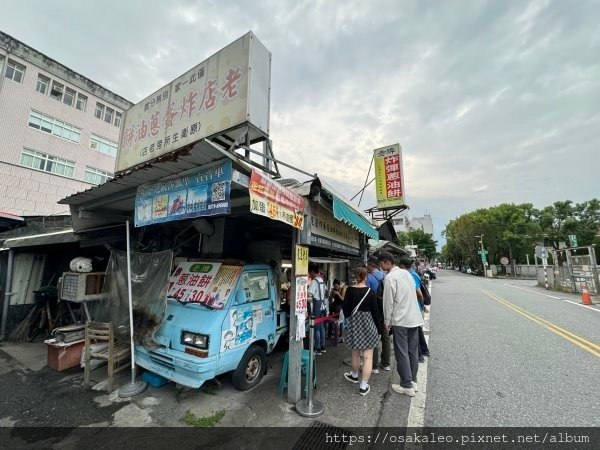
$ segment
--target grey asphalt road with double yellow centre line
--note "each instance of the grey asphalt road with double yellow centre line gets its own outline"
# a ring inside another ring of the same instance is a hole
[[[426,426],[600,426],[598,305],[449,270],[432,294]]]

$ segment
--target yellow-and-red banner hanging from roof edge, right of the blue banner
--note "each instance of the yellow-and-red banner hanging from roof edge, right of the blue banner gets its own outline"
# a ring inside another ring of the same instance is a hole
[[[250,177],[249,191],[251,213],[287,223],[294,228],[304,227],[304,197],[255,170]]]

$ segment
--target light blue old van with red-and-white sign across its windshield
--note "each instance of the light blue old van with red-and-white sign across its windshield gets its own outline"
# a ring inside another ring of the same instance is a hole
[[[233,372],[236,389],[251,389],[266,371],[266,355],[287,331],[279,290],[267,264],[179,264],[153,336],[156,346],[137,346],[137,364],[193,388]]]

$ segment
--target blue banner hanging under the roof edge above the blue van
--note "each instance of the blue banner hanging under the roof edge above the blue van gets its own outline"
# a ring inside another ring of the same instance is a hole
[[[135,226],[229,214],[232,172],[231,160],[225,160],[184,177],[139,186]]]

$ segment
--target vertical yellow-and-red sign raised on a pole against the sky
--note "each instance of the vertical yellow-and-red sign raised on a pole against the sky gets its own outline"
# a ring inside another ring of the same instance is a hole
[[[375,149],[375,190],[379,209],[404,205],[404,174],[400,144]]]

